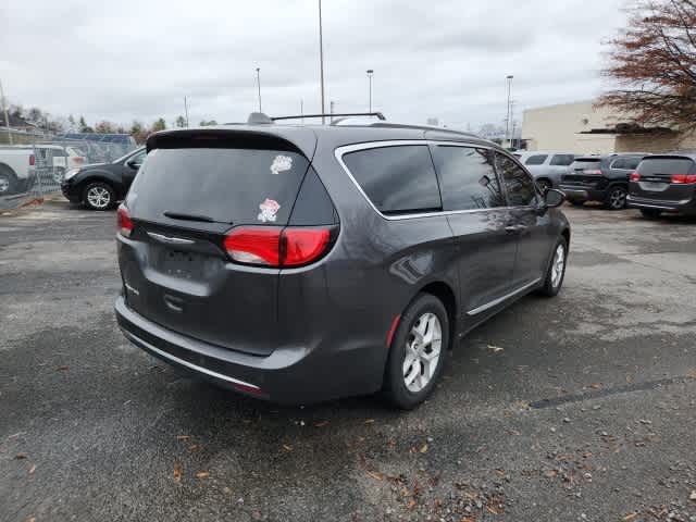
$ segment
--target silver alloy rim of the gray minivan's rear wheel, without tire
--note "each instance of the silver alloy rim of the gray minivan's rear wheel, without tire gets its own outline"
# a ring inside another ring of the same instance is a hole
[[[409,391],[421,391],[433,378],[440,357],[443,326],[437,315],[422,314],[406,340],[403,383]]]

